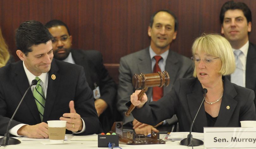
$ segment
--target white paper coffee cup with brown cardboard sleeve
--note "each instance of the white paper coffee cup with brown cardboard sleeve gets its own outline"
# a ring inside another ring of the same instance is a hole
[[[47,121],[50,143],[63,143],[67,121]]]

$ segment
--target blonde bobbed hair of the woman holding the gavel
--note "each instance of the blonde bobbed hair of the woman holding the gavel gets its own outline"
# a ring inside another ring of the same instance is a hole
[[[222,75],[230,75],[235,71],[235,57],[232,47],[227,39],[219,34],[203,33],[202,36],[195,39],[192,45],[192,55],[195,56],[195,51],[205,52],[213,57],[219,57],[222,66],[219,71]],[[196,75],[196,69],[194,68],[194,77]]]

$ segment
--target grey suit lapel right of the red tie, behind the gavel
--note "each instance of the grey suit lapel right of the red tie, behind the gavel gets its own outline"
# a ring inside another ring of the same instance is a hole
[[[164,86],[164,95],[170,92],[173,87],[171,84],[174,84],[177,71],[179,70],[178,66],[176,65],[177,62],[177,57],[174,57],[173,51],[169,50],[165,64],[165,71],[167,71],[170,76],[170,85]]]

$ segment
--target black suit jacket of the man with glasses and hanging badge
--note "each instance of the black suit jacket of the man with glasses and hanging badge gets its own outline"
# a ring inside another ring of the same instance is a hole
[[[101,52],[95,50],[71,50],[72,58],[77,65],[84,68],[87,82],[92,90],[95,84],[100,87],[101,99],[108,107],[99,117],[103,131],[106,133],[111,130],[114,122],[113,111],[115,109],[116,84],[108,74],[103,65]]]

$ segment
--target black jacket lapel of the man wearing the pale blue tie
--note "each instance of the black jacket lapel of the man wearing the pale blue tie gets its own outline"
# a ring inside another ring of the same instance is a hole
[[[246,78],[245,78],[245,86],[252,90],[255,89],[256,84],[256,49],[250,44],[247,53],[246,60]]]

